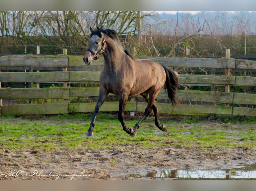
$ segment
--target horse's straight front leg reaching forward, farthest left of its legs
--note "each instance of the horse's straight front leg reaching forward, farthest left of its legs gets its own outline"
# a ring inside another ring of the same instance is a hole
[[[107,95],[108,95],[108,91],[105,88],[100,87],[99,99],[98,99],[97,104],[96,104],[95,109],[94,109],[93,118],[92,118],[92,121],[90,123],[90,127],[87,131],[87,136],[92,136],[93,135],[93,127],[95,126],[96,116],[99,113],[100,107],[104,103],[105,98],[106,98]]]

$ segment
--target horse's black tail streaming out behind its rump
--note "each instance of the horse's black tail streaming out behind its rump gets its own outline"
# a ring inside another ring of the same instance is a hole
[[[179,86],[179,75],[177,72],[163,66],[165,74],[166,74],[166,81],[164,84],[165,91],[168,92],[168,97],[171,100],[172,105],[178,104],[176,91]]]

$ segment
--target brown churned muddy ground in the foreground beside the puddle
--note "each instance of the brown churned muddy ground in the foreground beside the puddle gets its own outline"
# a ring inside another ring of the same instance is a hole
[[[179,122],[179,121],[175,121]],[[208,120],[208,125],[221,125]],[[193,124],[195,125],[195,124]],[[219,125],[219,126],[218,126]],[[234,128],[255,128],[255,124],[229,124]],[[221,127],[220,127],[221,128]],[[234,137],[239,139],[240,137]],[[170,142],[170,145],[171,142]],[[256,147],[217,148],[156,147],[138,149],[136,143],[106,150],[24,150],[0,152],[1,180],[139,180],[134,174],[166,169],[235,168],[255,162]]]

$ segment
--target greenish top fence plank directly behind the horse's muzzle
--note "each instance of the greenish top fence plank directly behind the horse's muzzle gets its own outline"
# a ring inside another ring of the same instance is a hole
[[[70,56],[69,55],[69,67],[89,67],[90,65],[87,65],[83,61],[83,56]],[[97,61],[93,61],[91,65],[104,65],[104,59],[103,57],[100,57]]]

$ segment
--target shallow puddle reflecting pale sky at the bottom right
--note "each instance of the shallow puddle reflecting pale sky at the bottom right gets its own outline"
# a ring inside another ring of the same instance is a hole
[[[234,169],[171,169],[130,176],[142,180],[256,180],[256,163]]]

